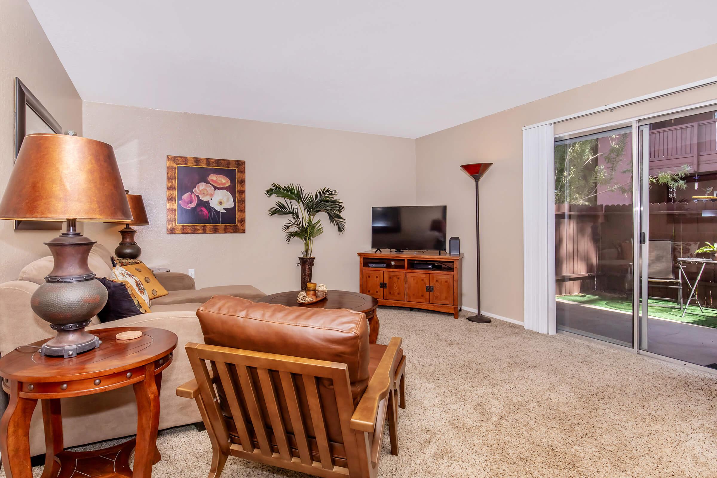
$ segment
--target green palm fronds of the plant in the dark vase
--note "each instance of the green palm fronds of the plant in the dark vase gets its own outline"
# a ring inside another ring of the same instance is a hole
[[[267,197],[280,198],[267,214],[288,217],[282,227],[285,239],[286,242],[294,238],[303,241],[301,257],[313,257],[313,241],[323,233],[321,220],[316,219],[317,214],[326,213],[328,221],[338,229],[338,234],[346,231],[346,219],[341,216],[343,201],[336,199],[338,191],[335,189],[320,188],[311,194],[298,184],[280,186],[273,183],[264,193]]]

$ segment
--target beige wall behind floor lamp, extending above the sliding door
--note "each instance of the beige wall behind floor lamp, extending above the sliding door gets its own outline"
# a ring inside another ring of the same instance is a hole
[[[712,45],[418,138],[417,204],[448,206],[448,234],[460,236],[466,254],[463,304],[477,304],[475,186],[460,164],[494,163],[480,181],[481,308],[522,321],[523,126],[716,77],[715,58],[717,45]],[[702,100],[713,99],[706,95]]]

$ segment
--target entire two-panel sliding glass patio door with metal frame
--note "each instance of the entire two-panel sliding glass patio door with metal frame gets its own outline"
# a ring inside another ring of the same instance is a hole
[[[553,173],[557,329],[717,369],[717,106],[556,138]]]

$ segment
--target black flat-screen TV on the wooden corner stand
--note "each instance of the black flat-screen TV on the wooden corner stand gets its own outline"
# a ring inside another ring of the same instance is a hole
[[[445,251],[446,206],[371,208],[371,248]]]

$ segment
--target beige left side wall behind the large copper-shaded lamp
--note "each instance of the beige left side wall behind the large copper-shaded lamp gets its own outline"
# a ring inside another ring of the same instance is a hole
[[[65,130],[82,134],[82,100],[25,0],[0,0],[0,195],[14,159],[15,77],[34,93]],[[32,191],[28,191],[32,197]],[[49,255],[42,244],[59,231],[14,231],[0,221],[0,282]]]

